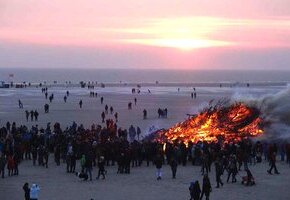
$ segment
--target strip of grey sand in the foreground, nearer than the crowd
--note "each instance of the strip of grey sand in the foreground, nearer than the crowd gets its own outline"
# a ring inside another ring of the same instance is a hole
[[[31,161],[20,165],[18,177],[0,179],[1,200],[23,199],[22,186],[25,182],[37,183],[41,187],[41,200],[182,200],[189,199],[188,187],[193,180],[202,182],[200,167],[188,165],[179,166],[177,178],[171,179],[168,166],[163,167],[163,178],[157,181],[154,166],[133,168],[130,175],[117,174],[116,167],[107,167],[105,180],[81,181],[74,174],[65,172],[65,164],[57,167],[50,158],[49,168],[32,166]],[[77,170],[80,169],[79,164]],[[215,188],[215,173],[210,173],[213,187],[210,199],[257,199],[257,200],[288,200],[290,197],[290,167],[285,163],[277,164],[280,175],[268,175],[266,162],[250,166],[257,184],[252,187],[243,186],[237,176],[237,183],[225,183],[220,189]],[[245,172],[240,172],[245,175]],[[96,177],[97,169],[93,170]],[[226,174],[222,180],[226,181]]]

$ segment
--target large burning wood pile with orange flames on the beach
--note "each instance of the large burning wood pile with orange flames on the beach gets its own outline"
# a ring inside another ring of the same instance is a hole
[[[221,100],[216,105],[212,102],[199,114],[190,115],[186,121],[156,132],[155,141],[177,140],[185,144],[199,141],[236,142],[263,134],[258,108],[241,102],[229,104],[228,100]]]

